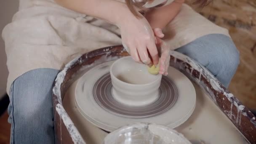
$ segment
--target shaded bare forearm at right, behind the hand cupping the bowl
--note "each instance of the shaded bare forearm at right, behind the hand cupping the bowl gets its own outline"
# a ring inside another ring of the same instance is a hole
[[[145,13],[145,18],[153,29],[163,29],[179,13],[182,3],[184,0],[175,0],[169,5],[152,9]]]

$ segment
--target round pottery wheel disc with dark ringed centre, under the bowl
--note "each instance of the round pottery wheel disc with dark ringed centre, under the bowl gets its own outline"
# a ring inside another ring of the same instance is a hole
[[[76,104],[81,114],[105,131],[131,123],[157,123],[175,128],[184,123],[195,109],[195,88],[178,70],[169,67],[162,77],[159,96],[144,106],[129,106],[114,98],[109,69],[113,61],[88,70],[78,81]],[[186,90],[184,90],[186,88]]]

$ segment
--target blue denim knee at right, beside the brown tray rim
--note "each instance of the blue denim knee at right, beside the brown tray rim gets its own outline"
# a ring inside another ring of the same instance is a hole
[[[206,67],[226,88],[240,63],[239,51],[226,35],[210,34],[176,49]]]

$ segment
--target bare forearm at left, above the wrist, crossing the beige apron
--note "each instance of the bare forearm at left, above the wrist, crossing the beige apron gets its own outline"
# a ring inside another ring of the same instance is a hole
[[[132,15],[126,4],[117,0],[55,0],[55,2],[70,10],[103,19],[112,24],[117,24],[122,17]]]

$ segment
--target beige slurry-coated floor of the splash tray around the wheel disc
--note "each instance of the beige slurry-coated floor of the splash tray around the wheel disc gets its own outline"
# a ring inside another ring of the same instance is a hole
[[[63,105],[78,131],[88,144],[101,144],[107,132],[89,123],[78,111],[75,104],[75,87],[71,85],[64,96]],[[237,128],[221,113],[197,84],[193,83],[197,93],[197,104],[194,113],[179,127],[179,133],[194,143],[202,144],[246,144]]]

